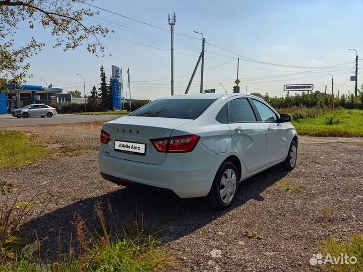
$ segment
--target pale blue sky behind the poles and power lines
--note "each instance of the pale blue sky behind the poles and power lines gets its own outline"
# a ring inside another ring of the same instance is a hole
[[[268,92],[270,96],[282,96],[285,95],[283,85],[305,83],[313,83],[315,90],[320,91],[324,90],[324,83],[327,83],[330,92],[331,76],[327,73],[334,75],[334,92],[352,92],[354,83],[349,81],[349,77],[354,72],[355,51],[347,48],[355,48],[361,56],[359,58],[363,59],[363,0],[95,0],[90,4],[164,29],[169,29],[168,14],[175,12],[176,33],[200,38],[200,35],[193,33],[198,31],[204,34],[207,42],[239,55],[275,64],[309,66],[302,69],[256,63],[240,58],[241,92],[245,92],[247,86],[248,93]],[[79,73],[84,76],[86,92],[89,93],[93,84],[99,84],[100,65],[107,68],[106,73],[109,76],[110,67],[114,64],[123,68],[125,87],[126,71],[130,66],[133,98],[155,99],[170,94],[170,32],[104,11],[100,11],[97,18],[92,20],[97,22],[86,19],[85,23],[100,22],[115,31],[110,34],[114,38],[100,38],[106,48],[105,53],[112,56],[97,57],[88,53],[85,47],[67,52],[61,48],[54,49],[52,45],[55,40],[49,35],[49,31],[44,31],[41,27],[36,27],[33,31],[27,28],[20,31],[20,35],[16,36],[18,44],[26,43],[31,36],[46,43],[43,50],[31,59],[30,72],[34,78],[28,79],[27,83],[45,85],[39,79],[44,78],[48,84],[63,87],[66,91],[78,89],[83,92],[82,78],[76,75]],[[199,39],[175,34],[175,93],[185,92],[201,45]],[[215,88],[223,92],[220,82],[231,92],[237,76],[238,56],[206,44],[205,57],[204,89]],[[351,63],[335,66],[348,61]],[[359,61],[358,67],[359,65],[361,67],[363,61]],[[313,68],[326,66],[332,67]],[[363,71],[360,74],[358,85],[363,83]],[[200,73],[194,78],[190,93],[199,92],[199,86]]]

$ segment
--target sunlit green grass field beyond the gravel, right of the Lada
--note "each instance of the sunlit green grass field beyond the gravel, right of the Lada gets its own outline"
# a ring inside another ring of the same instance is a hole
[[[301,109],[304,111],[304,109]],[[289,111],[298,114],[298,110]],[[327,116],[327,114],[329,114]],[[311,115],[313,116],[313,115]],[[323,111],[317,110],[314,117],[292,119],[297,133],[300,135],[310,135],[318,137],[363,137],[363,110],[337,109]]]

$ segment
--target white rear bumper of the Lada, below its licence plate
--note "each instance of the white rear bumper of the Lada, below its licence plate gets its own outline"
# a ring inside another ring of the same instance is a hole
[[[162,165],[110,157],[101,151],[99,170],[119,185],[140,183],[169,189],[181,198],[206,196],[222,163],[199,152],[168,153]]]

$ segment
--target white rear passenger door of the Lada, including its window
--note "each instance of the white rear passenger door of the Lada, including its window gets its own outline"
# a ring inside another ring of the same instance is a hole
[[[256,171],[265,165],[266,127],[258,122],[250,101],[236,98],[229,102],[228,125],[248,172]]]

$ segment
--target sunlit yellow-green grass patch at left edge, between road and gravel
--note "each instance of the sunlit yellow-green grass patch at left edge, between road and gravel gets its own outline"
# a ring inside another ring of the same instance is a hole
[[[0,169],[30,164],[49,156],[49,151],[35,138],[19,131],[0,130]]]

